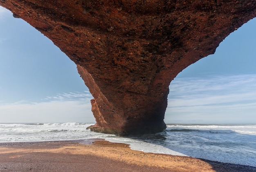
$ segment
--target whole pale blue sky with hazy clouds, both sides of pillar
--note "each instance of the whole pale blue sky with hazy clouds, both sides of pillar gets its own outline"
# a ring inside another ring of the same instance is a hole
[[[256,123],[256,18],[170,85],[166,123]],[[0,123],[94,122],[76,65],[0,7]]]

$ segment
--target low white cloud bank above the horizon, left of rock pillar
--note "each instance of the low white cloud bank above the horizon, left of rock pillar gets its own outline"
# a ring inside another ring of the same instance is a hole
[[[57,95],[45,102],[20,101],[0,105],[0,122],[95,122],[88,92],[63,95],[67,99]]]

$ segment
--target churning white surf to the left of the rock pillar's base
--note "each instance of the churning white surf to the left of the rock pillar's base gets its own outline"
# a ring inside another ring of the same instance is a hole
[[[28,142],[66,139],[84,139],[86,128],[92,124],[0,124],[0,142]]]

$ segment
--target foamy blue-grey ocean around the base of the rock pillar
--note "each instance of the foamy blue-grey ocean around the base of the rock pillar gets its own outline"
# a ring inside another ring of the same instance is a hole
[[[105,139],[144,152],[256,167],[256,124],[167,124],[162,133],[118,137],[86,130],[91,123],[0,124],[0,142]]]

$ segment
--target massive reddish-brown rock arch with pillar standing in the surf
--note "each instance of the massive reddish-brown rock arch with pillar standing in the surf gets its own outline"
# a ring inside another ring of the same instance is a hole
[[[166,128],[168,86],[256,16],[255,0],[0,0],[77,65],[92,96],[92,131]],[[61,62],[60,62],[61,64]]]

